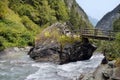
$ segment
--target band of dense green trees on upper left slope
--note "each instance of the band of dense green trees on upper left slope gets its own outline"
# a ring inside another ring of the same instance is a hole
[[[64,1],[58,0],[9,0],[9,6],[19,15],[28,16],[40,26],[56,21],[67,21],[68,10]],[[19,7],[18,7],[19,6]]]

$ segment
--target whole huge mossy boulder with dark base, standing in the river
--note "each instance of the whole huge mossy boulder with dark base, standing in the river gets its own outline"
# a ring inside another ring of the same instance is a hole
[[[96,47],[87,38],[81,39],[67,24],[56,23],[46,28],[36,39],[29,55],[36,61],[68,63],[90,59]]]

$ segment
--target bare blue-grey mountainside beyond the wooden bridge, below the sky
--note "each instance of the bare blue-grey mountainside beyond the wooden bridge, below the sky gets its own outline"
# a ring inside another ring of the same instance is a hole
[[[113,30],[113,23],[120,17],[120,5],[107,13],[96,25],[96,28],[102,30]]]

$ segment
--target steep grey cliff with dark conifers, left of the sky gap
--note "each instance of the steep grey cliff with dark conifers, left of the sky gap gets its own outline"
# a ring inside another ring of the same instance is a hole
[[[70,16],[70,23],[74,26],[74,28],[81,27],[92,27],[88,16],[84,12],[84,10],[77,4],[76,0],[64,0]]]

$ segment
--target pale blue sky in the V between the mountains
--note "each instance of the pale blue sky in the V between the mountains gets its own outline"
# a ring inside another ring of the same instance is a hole
[[[120,4],[120,0],[76,0],[88,16],[100,20]]]

